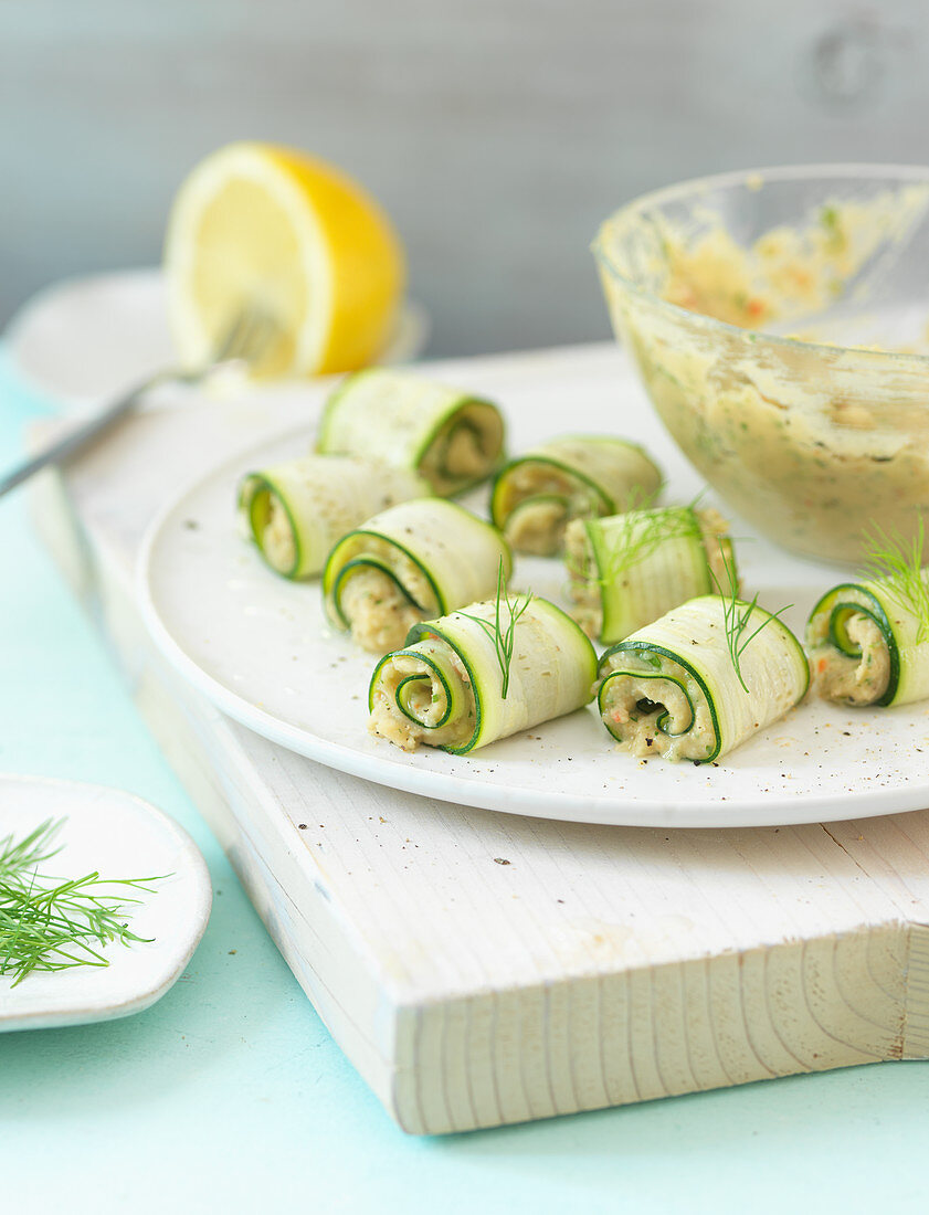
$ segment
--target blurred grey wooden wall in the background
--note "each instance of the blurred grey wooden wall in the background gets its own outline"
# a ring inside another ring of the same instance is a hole
[[[600,338],[610,210],[726,168],[927,159],[929,4],[0,0],[0,323],[154,262],[233,139],[358,176],[408,245],[431,354]]]

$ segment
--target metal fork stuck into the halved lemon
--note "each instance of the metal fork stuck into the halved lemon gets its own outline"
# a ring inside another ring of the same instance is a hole
[[[6,476],[0,479],[0,498],[17,485],[28,481],[29,477],[45,468],[47,464],[62,464],[70,456],[81,451],[104,430],[108,430],[118,418],[131,413],[140,400],[160,384],[200,384],[220,367],[231,363],[254,363],[261,357],[273,338],[276,324],[267,312],[254,307],[239,312],[232,324],[226,329],[222,338],[216,343],[213,357],[203,367],[193,371],[181,371],[179,368],[157,372],[135,388],[124,392],[123,396],[108,405],[101,413],[95,414],[83,425],[77,426],[69,434],[58,439],[44,452],[15,468]]]

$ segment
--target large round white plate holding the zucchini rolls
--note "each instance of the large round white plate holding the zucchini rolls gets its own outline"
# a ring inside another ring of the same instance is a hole
[[[559,430],[559,391],[514,408],[519,447]],[[595,411],[591,403],[590,409]],[[602,411],[602,402],[596,405]],[[596,425],[572,402],[578,430]],[[699,484],[651,417],[639,436],[678,497]],[[600,417],[602,428],[602,412]],[[367,731],[374,659],[324,625],[316,583],[273,576],[233,526],[242,474],[305,452],[312,429],[265,441],[210,470],[155,521],[140,594],[162,651],[219,708],[293,751],[357,776],[446,801],[542,818],[667,826],[825,821],[929,804],[929,707],[795,710],[719,767],[644,762],[613,750],[593,707],[471,756],[404,755]],[[519,450],[517,447],[517,450]],[[712,501],[712,499],[708,499]],[[480,505],[480,499],[475,499]],[[794,560],[735,525],[746,584],[801,631],[834,569]],[[523,559],[516,583],[563,599],[556,561]]]

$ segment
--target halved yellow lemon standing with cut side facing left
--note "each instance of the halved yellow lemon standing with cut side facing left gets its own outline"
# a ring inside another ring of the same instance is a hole
[[[404,287],[390,220],[349,176],[293,148],[231,143],[185,180],[168,224],[171,328],[199,367],[249,305],[273,324],[257,375],[347,372],[390,340]]]

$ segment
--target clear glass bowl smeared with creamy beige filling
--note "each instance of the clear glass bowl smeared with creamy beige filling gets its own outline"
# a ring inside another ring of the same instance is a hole
[[[778,544],[856,563],[929,514],[929,168],[725,174],[629,203],[594,253],[674,440]]]

